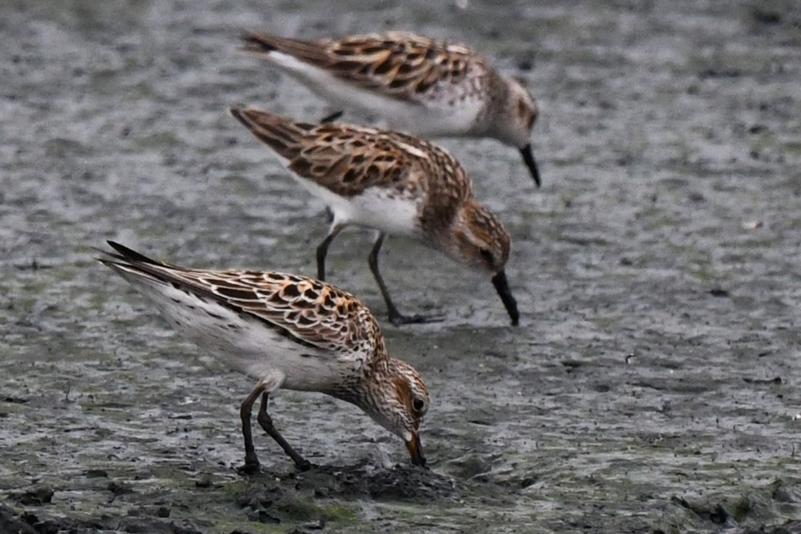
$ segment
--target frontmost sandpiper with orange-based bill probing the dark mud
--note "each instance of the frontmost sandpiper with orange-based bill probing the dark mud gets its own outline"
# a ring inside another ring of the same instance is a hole
[[[109,241],[101,263],[151,299],[171,326],[236,371],[258,379],[242,402],[244,472],[256,472],[251,409],[296,466],[311,464],[272,424],[268,398],[279,387],[320,391],[356,404],[400,436],[412,463],[425,467],[420,424],[429,393],[414,367],[392,358],[372,313],[327,283],[280,272],[205,271],[160,263]]]

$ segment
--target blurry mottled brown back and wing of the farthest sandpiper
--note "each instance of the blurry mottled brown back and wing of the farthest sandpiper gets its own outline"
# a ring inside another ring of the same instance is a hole
[[[244,42],[253,54],[290,54],[356,86],[424,106],[442,94],[464,98],[478,92],[471,80],[485,79],[478,74],[491,70],[465,46],[405,32],[316,42],[251,33]]]

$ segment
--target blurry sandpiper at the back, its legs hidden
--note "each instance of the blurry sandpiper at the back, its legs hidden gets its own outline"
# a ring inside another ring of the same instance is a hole
[[[399,31],[318,41],[249,32],[243,40],[244,52],[282,67],[337,106],[380,115],[392,129],[490,137],[515,147],[540,186],[530,140],[537,101],[464,45]]]

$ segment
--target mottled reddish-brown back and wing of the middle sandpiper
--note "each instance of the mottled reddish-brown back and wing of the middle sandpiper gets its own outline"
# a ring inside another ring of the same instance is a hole
[[[440,189],[472,194],[457,160],[413,135],[292,122],[253,108],[232,107],[230,112],[276,151],[290,171],[337,195],[352,197],[369,187],[394,189],[410,197]]]

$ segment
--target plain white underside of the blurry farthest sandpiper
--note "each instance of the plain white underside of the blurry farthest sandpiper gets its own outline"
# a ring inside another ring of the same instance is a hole
[[[362,89],[289,54],[272,51],[260,57],[266,57],[283,67],[335,105],[356,107],[379,114],[392,129],[409,131],[423,137],[473,135],[476,118],[485,104],[480,98],[459,100],[457,93],[453,94],[453,105],[446,95],[428,102],[422,99],[420,103],[406,102]]]

